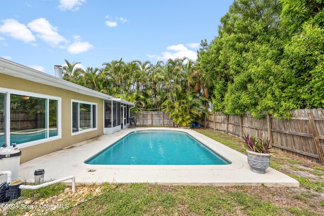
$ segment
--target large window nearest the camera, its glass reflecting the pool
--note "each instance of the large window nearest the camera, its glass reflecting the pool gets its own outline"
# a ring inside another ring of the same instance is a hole
[[[0,146],[32,145],[60,136],[60,98],[15,90],[0,91]]]

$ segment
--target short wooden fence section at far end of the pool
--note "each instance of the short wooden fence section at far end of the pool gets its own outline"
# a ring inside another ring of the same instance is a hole
[[[139,126],[174,126],[172,118],[169,119],[169,113],[143,111],[134,115],[136,125]]]

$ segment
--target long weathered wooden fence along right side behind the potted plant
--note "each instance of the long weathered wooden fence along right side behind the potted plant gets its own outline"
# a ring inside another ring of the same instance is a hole
[[[324,164],[324,110],[292,110],[289,120],[279,120],[267,115],[257,119],[249,114],[226,115],[210,113],[199,123],[205,127],[242,137],[244,134],[258,138],[267,137],[272,147]]]

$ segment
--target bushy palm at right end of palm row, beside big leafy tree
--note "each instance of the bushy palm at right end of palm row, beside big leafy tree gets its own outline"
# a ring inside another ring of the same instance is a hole
[[[168,90],[164,112],[170,112],[173,121],[181,126],[189,126],[197,117],[208,115],[205,102],[208,99],[200,97],[200,89],[195,91],[194,86],[198,80],[195,76],[194,64],[187,58],[169,60],[164,67],[165,86]]]

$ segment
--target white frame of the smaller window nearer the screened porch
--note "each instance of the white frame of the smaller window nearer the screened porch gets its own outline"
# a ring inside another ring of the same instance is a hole
[[[78,131],[73,132],[73,103],[77,103],[78,104],[78,109],[77,109],[77,125],[78,125]],[[80,104],[88,104],[91,107],[91,113],[90,113],[90,117],[91,117],[91,128],[87,128],[87,129],[82,129],[80,130]],[[93,113],[93,108],[94,106],[96,107],[95,109],[95,113]],[[93,119],[93,117],[95,117],[95,120]],[[78,135],[78,134],[83,134],[83,133],[87,133],[87,132],[91,132],[91,131],[96,131],[98,129],[98,104],[97,103],[93,103],[93,102],[89,102],[89,101],[80,101],[80,100],[71,100],[71,135]],[[93,124],[96,124],[95,126]]]

